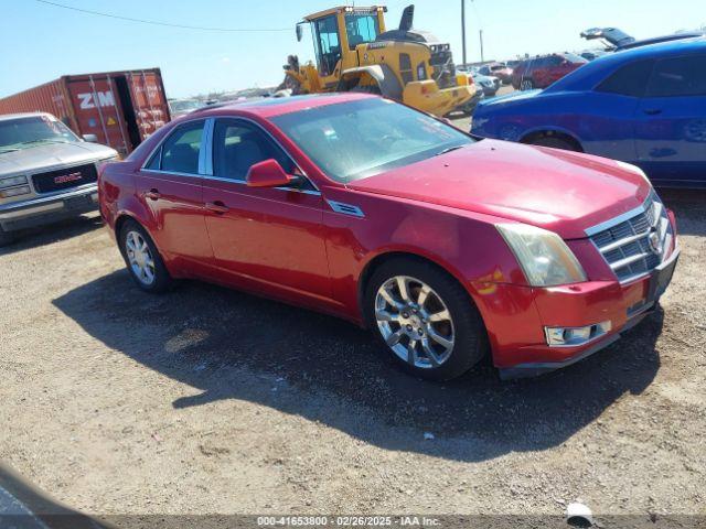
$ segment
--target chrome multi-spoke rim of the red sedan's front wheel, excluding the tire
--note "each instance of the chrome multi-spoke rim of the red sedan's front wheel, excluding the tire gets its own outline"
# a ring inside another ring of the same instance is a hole
[[[396,276],[383,283],[375,321],[385,343],[410,366],[439,367],[451,356],[453,320],[441,296],[421,280]]]

